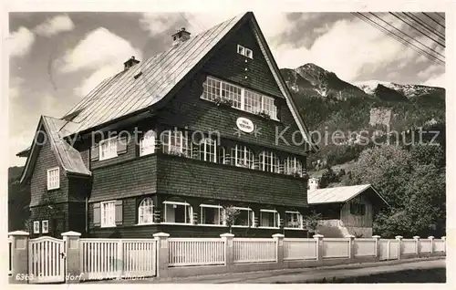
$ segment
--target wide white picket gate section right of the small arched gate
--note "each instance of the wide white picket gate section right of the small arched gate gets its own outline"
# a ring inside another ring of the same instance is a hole
[[[81,271],[86,280],[155,275],[152,239],[80,239]]]

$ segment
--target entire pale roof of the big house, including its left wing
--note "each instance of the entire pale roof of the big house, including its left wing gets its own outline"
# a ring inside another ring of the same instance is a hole
[[[202,67],[217,47],[222,46],[223,40],[236,33],[237,29],[247,21],[252,23],[254,36],[298,128],[307,142],[310,143],[310,149],[318,150],[316,145],[310,141],[306,123],[298,113],[254,14],[248,12],[213,26],[211,29],[191,37],[161,54],[150,57],[113,77],[106,78],[73,109],[70,109],[62,119],[43,117],[40,123],[43,121],[47,127],[53,129],[51,132],[55,134],[55,152],[59,156],[57,159],[62,167],[67,172],[90,174],[90,171],[83,166],[79,152],[67,147],[69,144],[63,140],[65,137],[101,127],[110,121],[154,109],[162,99],[172,96],[172,92],[192,77],[192,74],[196,73],[199,67]],[[29,166],[31,161],[29,160],[33,160],[34,148],[35,144],[31,146],[28,154],[23,179],[30,175],[28,171],[31,168]],[[20,154],[24,156],[25,152],[22,151]]]

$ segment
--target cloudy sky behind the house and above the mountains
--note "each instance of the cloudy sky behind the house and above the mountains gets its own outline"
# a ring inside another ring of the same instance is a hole
[[[24,165],[26,158],[16,153],[30,145],[41,115],[61,118],[101,80],[122,70],[128,58],[144,60],[170,47],[177,29],[185,27],[196,35],[233,16],[10,13],[9,165]],[[254,16],[281,68],[314,63],[351,83],[379,80],[444,87],[444,66],[349,13],[254,11]],[[418,34],[393,16],[382,17],[410,36]],[[437,46],[425,36],[417,39]],[[444,51],[438,52],[444,56]]]

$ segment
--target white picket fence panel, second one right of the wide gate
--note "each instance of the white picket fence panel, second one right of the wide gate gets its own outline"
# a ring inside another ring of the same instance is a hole
[[[277,260],[277,246],[273,239],[234,238],[234,263],[261,263]]]

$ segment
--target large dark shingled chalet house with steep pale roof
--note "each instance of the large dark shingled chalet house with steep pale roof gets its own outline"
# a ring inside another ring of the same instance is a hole
[[[317,148],[253,13],[131,57],[60,118],[42,116],[21,182],[30,233],[306,236]]]

